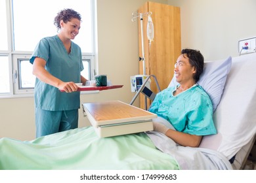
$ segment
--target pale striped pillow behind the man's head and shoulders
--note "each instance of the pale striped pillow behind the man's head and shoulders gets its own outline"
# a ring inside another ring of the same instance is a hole
[[[215,112],[219,102],[221,101],[221,95],[223,94],[224,85],[226,83],[226,76],[230,71],[232,64],[232,58],[221,59],[218,61],[208,61],[204,64],[203,73],[198,80],[198,84],[203,87],[205,92],[209,95],[211,102],[213,103],[213,112]],[[176,86],[175,76],[171,80],[170,86]]]

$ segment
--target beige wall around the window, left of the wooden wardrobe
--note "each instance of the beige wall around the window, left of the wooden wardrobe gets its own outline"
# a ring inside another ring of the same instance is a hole
[[[130,103],[130,76],[139,73],[138,22],[131,22],[132,12],[146,0],[98,0],[98,73],[108,75],[113,84],[123,88],[81,95],[81,103],[120,100]],[[167,4],[167,0],[155,0]],[[81,27],[83,29],[83,27]],[[135,102],[138,105],[138,101]],[[0,138],[22,141],[35,138],[33,97],[0,99]],[[88,125],[79,110],[79,127]]]

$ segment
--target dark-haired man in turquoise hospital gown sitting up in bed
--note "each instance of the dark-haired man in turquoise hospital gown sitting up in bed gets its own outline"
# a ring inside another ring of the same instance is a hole
[[[203,73],[203,56],[200,51],[182,50],[174,71],[179,84],[158,93],[149,111],[165,118],[176,131],[159,122],[153,122],[154,130],[182,146],[198,147],[203,135],[217,133],[211,100],[197,84]]]

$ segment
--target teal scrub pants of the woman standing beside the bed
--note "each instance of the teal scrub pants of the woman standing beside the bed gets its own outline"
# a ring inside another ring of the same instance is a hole
[[[75,129],[77,126],[78,109],[51,111],[35,108],[36,137]]]

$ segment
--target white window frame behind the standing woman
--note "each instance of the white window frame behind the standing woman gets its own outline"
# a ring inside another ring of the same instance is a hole
[[[21,73],[19,72],[18,63],[20,59],[29,59],[32,56],[32,51],[16,51],[14,50],[14,33],[13,33],[13,17],[12,17],[12,0],[6,0],[7,8],[7,39],[8,39],[8,50],[0,50],[1,56],[8,56],[9,58],[9,83],[10,92],[0,93],[1,98],[7,97],[33,97],[33,88],[20,88],[19,78]],[[91,0],[91,22],[92,22],[92,52],[82,52],[82,60],[89,61],[89,78],[92,80],[95,76],[95,41],[96,41],[96,0]],[[86,92],[82,92],[86,93]]]

